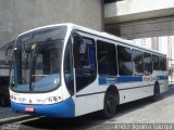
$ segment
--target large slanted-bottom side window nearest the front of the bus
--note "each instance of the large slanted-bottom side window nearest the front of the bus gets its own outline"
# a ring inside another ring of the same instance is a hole
[[[74,64],[76,75],[76,90],[91,83],[97,77],[96,69],[96,46],[95,40],[90,38],[74,38]]]

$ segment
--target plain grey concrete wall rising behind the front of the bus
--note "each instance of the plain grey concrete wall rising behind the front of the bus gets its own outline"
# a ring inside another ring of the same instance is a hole
[[[0,47],[35,27],[75,23],[102,29],[101,0],[0,0]]]

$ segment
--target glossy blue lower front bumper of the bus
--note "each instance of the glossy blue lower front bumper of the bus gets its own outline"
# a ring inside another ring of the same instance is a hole
[[[48,117],[74,117],[75,105],[72,98],[67,100],[49,105],[33,105],[33,104],[18,104],[11,101],[11,107],[16,113],[25,113],[26,106],[33,106],[36,115],[48,116]],[[33,113],[32,113],[33,114]]]

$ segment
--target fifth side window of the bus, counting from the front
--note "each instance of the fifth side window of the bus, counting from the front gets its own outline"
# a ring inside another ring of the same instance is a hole
[[[144,52],[144,65],[145,65],[145,75],[150,75],[152,73],[152,61],[150,53]]]

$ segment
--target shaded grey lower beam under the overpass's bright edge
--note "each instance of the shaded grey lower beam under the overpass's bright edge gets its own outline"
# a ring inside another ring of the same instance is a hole
[[[108,32],[117,35],[114,27],[126,39],[174,36],[174,16],[105,26]]]

